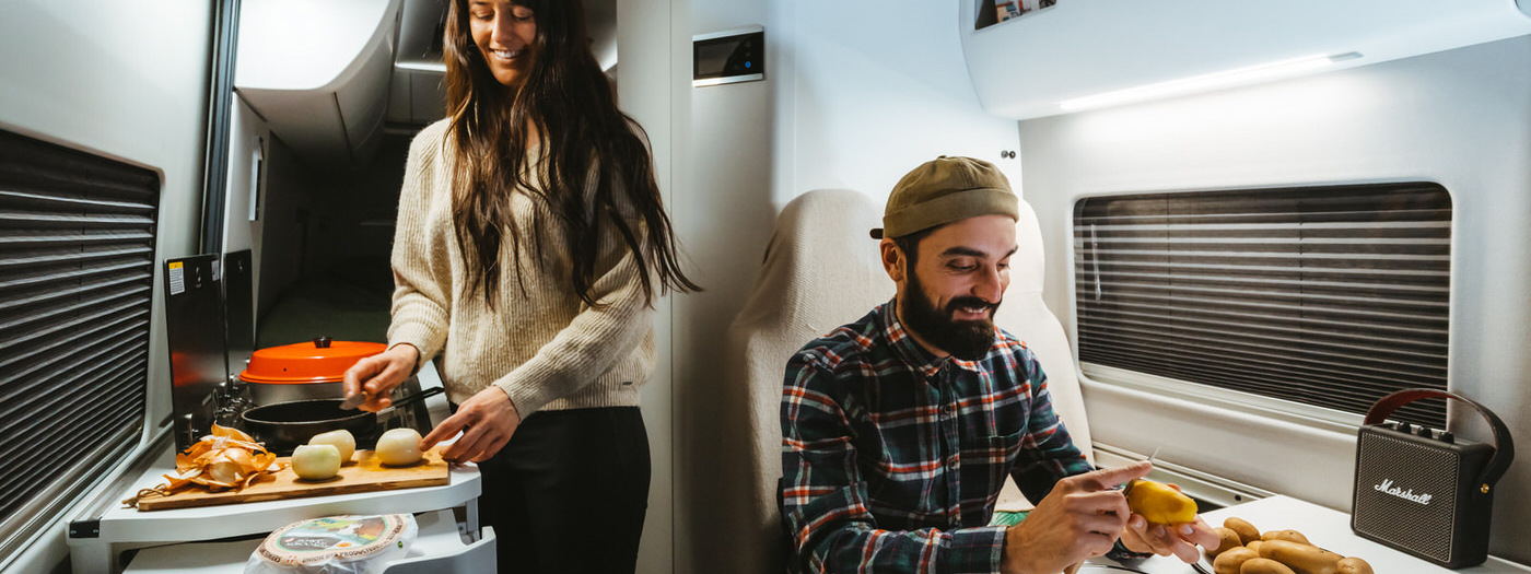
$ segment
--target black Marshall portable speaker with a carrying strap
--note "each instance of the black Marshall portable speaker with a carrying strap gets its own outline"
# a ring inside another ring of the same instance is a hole
[[[1494,444],[1384,422],[1398,407],[1422,398],[1473,406],[1494,429]],[[1465,396],[1433,389],[1382,396],[1367,410],[1356,441],[1350,530],[1447,568],[1482,563],[1488,559],[1494,484],[1514,455],[1510,429]]]

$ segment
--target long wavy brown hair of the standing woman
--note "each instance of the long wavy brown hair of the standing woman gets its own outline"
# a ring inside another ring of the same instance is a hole
[[[482,289],[484,298],[495,305],[504,240],[510,240],[513,263],[521,269],[516,246],[525,237],[516,227],[510,199],[530,193],[557,217],[573,262],[570,283],[585,305],[600,306],[591,286],[602,225],[614,225],[637,259],[649,305],[655,291],[701,291],[680,268],[648,138],[617,109],[611,81],[591,54],[583,2],[514,2],[531,8],[537,23],[536,60],[517,90],[495,80],[484,63],[473,43],[467,2],[453,0],[447,11],[444,52],[453,136],[447,139],[456,142],[459,165],[452,204],[468,289]],[[536,130],[542,144],[540,159],[530,165],[539,185],[528,181],[528,129]],[[591,185],[594,193],[586,196]],[[629,223],[632,214],[641,228]],[[542,242],[534,245],[540,249]],[[519,282],[521,276],[516,277]]]

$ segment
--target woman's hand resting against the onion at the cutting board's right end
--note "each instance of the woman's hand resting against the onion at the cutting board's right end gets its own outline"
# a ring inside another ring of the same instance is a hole
[[[514,435],[519,426],[521,413],[516,412],[516,404],[504,390],[490,386],[462,401],[455,415],[447,416],[430,430],[430,435],[419,439],[419,450],[430,450],[436,442],[461,430],[462,438],[447,447],[441,458],[455,462],[484,462],[510,442],[510,435]]]

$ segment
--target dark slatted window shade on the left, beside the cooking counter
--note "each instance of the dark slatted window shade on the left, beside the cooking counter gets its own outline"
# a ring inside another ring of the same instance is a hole
[[[3,550],[138,444],[158,205],[150,170],[0,132]]]

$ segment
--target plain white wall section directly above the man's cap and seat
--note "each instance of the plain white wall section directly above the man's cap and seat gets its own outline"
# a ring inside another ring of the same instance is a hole
[[[785,72],[773,133],[778,210],[814,188],[886,197],[899,178],[940,155],[995,162],[1020,184],[1020,159],[1000,159],[1000,150],[1015,150],[1014,122],[978,106],[955,3],[792,0],[773,9],[785,51],[776,61]]]

